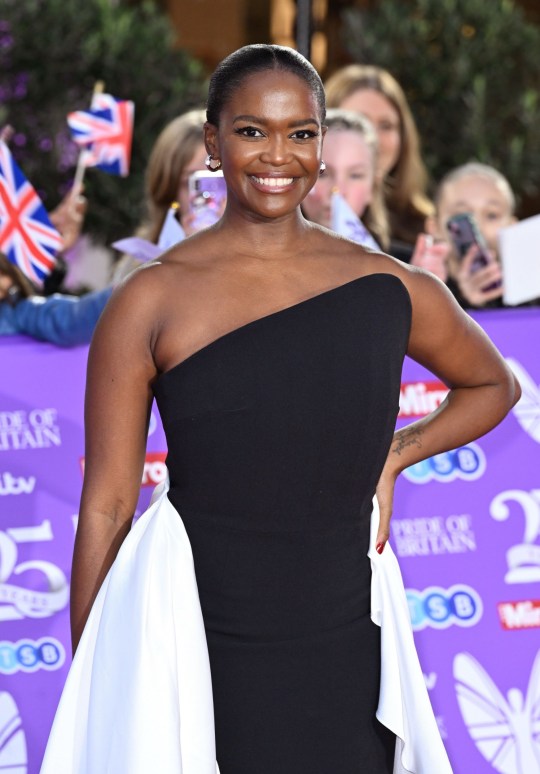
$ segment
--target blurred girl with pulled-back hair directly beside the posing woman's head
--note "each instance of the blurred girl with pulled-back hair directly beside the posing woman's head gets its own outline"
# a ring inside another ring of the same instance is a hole
[[[350,110],[329,110],[325,123],[326,168],[304,199],[302,210],[309,220],[331,228],[332,195],[338,192],[386,250],[388,215],[381,181],[376,175],[375,130],[367,118]]]

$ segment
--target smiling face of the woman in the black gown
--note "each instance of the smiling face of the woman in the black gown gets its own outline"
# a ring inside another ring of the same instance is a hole
[[[221,159],[227,211],[254,220],[294,212],[319,177],[323,130],[309,85],[283,69],[247,76],[205,126],[208,152]]]

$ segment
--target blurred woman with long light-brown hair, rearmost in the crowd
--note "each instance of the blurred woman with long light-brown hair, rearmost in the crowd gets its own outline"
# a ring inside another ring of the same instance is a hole
[[[386,186],[393,243],[390,252],[410,260],[433,206],[426,194],[418,131],[403,89],[386,70],[361,64],[338,70],[325,89],[329,107],[363,113],[377,129],[379,173]]]

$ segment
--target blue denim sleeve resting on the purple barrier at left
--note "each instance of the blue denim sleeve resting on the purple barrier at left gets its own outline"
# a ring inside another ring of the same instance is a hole
[[[0,302],[0,336],[25,333],[59,347],[87,344],[112,287],[83,296],[31,296],[15,306]]]

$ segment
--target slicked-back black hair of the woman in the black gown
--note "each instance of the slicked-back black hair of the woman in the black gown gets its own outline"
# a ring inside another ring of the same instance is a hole
[[[206,103],[208,122],[219,126],[223,108],[236,89],[250,75],[268,70],[282,70],[303,80],[315,95],[321,123],[324,122],[326,115],[324,86],[317,70],[293,48],[267,43],[243,46],[218,64],[208,87]]]

